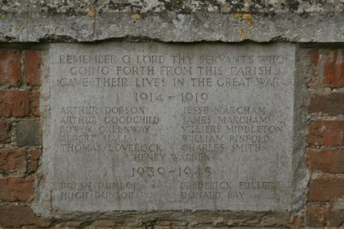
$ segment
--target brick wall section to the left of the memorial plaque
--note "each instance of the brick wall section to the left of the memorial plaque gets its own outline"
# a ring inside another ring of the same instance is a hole
[[[41,155],[39,50],[0,50],[0,226],[47,226],[30,203]]]

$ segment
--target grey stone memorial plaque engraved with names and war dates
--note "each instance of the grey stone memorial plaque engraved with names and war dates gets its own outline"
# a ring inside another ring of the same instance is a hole
[[[294,52],[52,44],[54,210],[290,210]]]

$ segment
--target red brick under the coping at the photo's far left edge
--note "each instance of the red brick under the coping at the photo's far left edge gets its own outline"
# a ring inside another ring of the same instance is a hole
[[[18,50],[0,51],[0,85],[17,86],[21,81]]]

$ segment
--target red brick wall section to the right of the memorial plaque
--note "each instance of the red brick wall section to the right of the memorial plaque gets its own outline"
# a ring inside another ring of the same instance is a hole
[[[307,226],[344,226],[344,49],[310,52]]]

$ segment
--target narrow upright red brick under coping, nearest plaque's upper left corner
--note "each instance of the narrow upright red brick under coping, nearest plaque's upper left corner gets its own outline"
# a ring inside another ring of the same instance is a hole
[[[41,56],[39,51],[26,50],[24,54],[24,74],[26,84],[39,86],[41,76]]]

